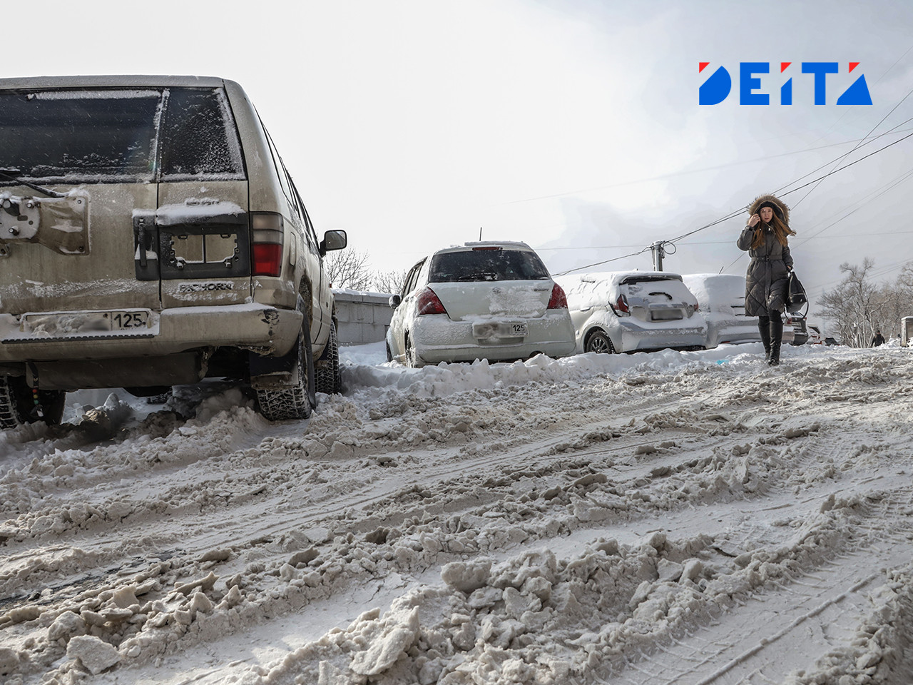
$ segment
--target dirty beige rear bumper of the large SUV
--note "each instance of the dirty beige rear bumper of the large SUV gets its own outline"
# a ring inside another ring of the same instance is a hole
[[[175,307],[152,311],[149,328],[142,331],[72,333],[58,337],[26,336],[16,316],[0,314],[0,364],[131,356],[139,360],[215,347],[237,347],[280,356],[291,350],[300,330],[300,311],[256,303]]]

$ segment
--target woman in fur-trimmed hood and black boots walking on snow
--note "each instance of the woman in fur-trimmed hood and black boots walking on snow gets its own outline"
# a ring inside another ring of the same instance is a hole
[[[745,276],[745,314],[758,317],[764,360],[776,366],[780,364],[782,314],[792,269],[788,237],[796,234],[790,228],[790,208],[774,195],[756,197],[748,213],[748,226],[737,242],[751,257]]]

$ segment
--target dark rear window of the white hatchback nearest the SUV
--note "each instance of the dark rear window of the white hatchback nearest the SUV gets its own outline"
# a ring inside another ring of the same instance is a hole
[[[509,249],[444,252],[431,258],[428,274],[431,283],[549,278],[548,269],[534,252]]]

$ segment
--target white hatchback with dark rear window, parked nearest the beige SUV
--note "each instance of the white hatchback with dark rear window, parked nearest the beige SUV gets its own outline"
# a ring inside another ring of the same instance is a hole
[[[564,292],[526,243],[438,250],[410,269],[390,306],[387,359],[409,366],[574,351]]]

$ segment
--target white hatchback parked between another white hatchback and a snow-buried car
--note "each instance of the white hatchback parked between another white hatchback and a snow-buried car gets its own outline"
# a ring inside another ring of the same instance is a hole
[[[704,348],[707,324],[678,274],[606,271],[558,282],[567,293],[578,353]]]

